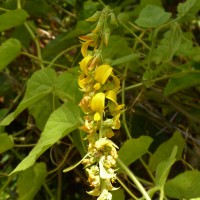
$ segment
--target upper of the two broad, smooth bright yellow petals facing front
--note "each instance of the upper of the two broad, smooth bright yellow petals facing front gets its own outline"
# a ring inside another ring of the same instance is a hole
[[[113,68],[110,65],[100,65],[96,71],[94,78],[101,84],[104,84],[108,77],[111,75]]]

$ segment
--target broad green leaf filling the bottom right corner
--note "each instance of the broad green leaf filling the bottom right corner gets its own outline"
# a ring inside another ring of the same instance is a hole
[[[199,180],[199,171],[186,171],[165,184],[165,194],[175,199],[200,197]]]

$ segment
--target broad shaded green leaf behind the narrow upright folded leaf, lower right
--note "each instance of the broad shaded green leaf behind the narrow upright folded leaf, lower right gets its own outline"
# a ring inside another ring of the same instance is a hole
[[[152,171],[155,171],[157,166],[162,162],[167,160],[171,152],[173,151],[174,146],[178,147],[176,159],[181,159],[182,151],[185,145],[185,141],[178,131],[174,132],[173,136],[166,142],[162,143],[150,157],[149,168]]]

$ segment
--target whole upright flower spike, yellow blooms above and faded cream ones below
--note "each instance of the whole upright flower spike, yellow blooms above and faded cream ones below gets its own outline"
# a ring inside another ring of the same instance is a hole
[[[86,114],[81,128],[88,133],[89,141],[88,157],[83,164],[88,173],[88,182],[93,187],[88,193],[99,196],[98,200],[109,200],[112,199],[109,191],[116,189],[112,183],[116,179],[118,148],[109,138],[121,126],[119,118],[124,107],[117,103],[120,81],[101,55],[103,46],[108,43],[109,22],[114,21],[114,14],[105,7],[88,21],[97,21],[97,25],[91,33],[80,37],[83,59],[78,84],[84,96],[79,106]]]

